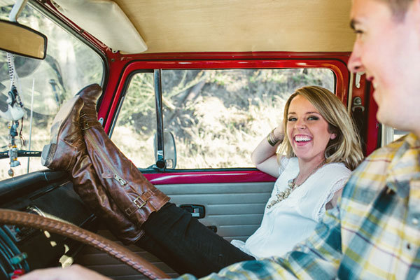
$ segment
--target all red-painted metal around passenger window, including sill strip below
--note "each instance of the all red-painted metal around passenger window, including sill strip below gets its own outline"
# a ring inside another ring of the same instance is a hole
[[[335,73],[335,92],[347,106],[349,97],[349,71],[346,62],[349,52],[344,53],[295,53],[295,52],[246,52],[246,53],[182,53],[160,55],[120,55],[110,53],[109,75],[106,89],[99,109],[99,118],[104,118],[106,132],[111,130],[113,117],[118,110],[120,94],[134,71],[141,69],[272,69],[272,68],[328,68]],[[365,105],[365,80],[360,80],[360,87],[353,87],[353,97],[360,96]],[[371,116],[369,116],[371,117]],[[369,123],[372,126],[374,124]],[[370,135],[369,137],[372,137]],[[368,140],[370,140],[369,138]],[[368,141],[367,151],[376,148],[376,138]],[[209,172],[174,172],[145,174],[152,183],[238,183],[274,181],[272,176],[255,170],[247,171],[211,171]]]

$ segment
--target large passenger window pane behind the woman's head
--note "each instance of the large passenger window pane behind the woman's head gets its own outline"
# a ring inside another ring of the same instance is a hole
[[[297,87],[334,91],[328,69],[162,71],[163,121],[174,134],[177,169],[254,167],[255,146],[283,118]]]

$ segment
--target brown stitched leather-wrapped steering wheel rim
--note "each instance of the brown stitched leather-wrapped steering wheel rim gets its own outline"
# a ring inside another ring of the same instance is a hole
[[[141,272],[141,274],[144,274],[144,276],[149,279],[169,278],[165,272],[162,272],[158,267],[155,267],[155,265],[152,265],[150,262],[144,260],[144,258],[141,258],[127,248],[70,223],[10,209],[0,209],[0,223],[21,225],[27,228],[37,228],[39,230],[55,232],[59,235],[64,235],[65,237],[93,246],[100,251],[104,251],[111,255],[111,257],[116,258],[136,269],[138,272]]]

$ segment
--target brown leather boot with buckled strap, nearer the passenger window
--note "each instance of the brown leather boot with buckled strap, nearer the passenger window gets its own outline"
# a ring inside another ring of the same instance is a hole
[[[89,88],[80,93],[85,104],[80,111],[80,126],[87,153],[102,186],[123,213],[140,227],[169,197],[155,188],[109,139],[97,120],[96,102],[102,88],[96,84]]]

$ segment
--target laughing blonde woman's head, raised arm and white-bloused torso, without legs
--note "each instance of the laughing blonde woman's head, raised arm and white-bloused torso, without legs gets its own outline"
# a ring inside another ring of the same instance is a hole
[[[260,228],[245,243],[232,244],[261,258],[283,255],[309,237],[325,209],[337,204],[363,154],[342,102],[323,87],[309,86],[289,97],[283,124],[262,139],[251,159],[278,179]]]

